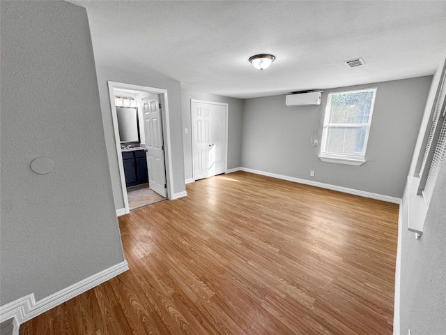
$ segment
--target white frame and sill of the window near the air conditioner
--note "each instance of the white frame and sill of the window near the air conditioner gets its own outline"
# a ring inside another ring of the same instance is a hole
[[[330,124],[330,115],[331,115],[331,107],[332,107],[332,96],[337,94],[349,94],[349,93],[355,93],[360,91],[373,91],[374,95],[372,97],[371,105],[370,105],[370,114],[369,114],[369,121],[367,124]],[[375,105],[375,98],[376,98],[376,87],[371,87],[367,89],[353,89],[351,91],[340,91],[340,92],[330,92],[327,96],[327,106],[325,107],[325,118],[323,121],[323,132],[322,132],[322,140],[321,140],[321,154],[319,154],[319,158],[321,161],[329,162],[329,163],[341,163],[341,164],[348,164],[348,165],[362,165],[365,161],[365,153],[367,150],[367,142],[369,141],[369,133],[370,133],[370,126],[371,126],[371,118],[373,116],[374,112],[374,105]],[[353,156],[353,155],[345,155],[345,154],[333,154],[328,153],[326,151],[327,143],[328,143],[328,128],[330,127],[365,127],[366,133],[364,137],[364,149],[363,149],[363,155],[361,156]]]

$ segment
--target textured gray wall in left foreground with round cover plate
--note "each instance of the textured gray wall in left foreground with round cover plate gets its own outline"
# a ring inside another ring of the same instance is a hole
[[[2,305],[123,262],[102,129],[86,10],[1,1]]]

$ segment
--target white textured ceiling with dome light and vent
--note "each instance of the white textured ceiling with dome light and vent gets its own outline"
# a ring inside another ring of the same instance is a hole
[[[446,1],[70,2],[98,64],[234,98],[431,75],[446,54]],[[276,57],[262,72],[259,53]]]

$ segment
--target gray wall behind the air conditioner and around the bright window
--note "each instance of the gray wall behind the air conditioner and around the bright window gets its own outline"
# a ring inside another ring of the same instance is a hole
[[[321,106],[286,107],[285,96],[245,101],[241,165],[288,177],[401,198],[431,76],[325,89]],[[378,87],[366,160],[360,166],[322,162],[310,138],[329,92]],[[315,177],[309,177],[310,170]]]

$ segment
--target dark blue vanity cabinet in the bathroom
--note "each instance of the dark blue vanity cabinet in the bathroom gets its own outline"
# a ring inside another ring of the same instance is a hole
[[[148,183],[146,151],[123,151],[125,186]]]

